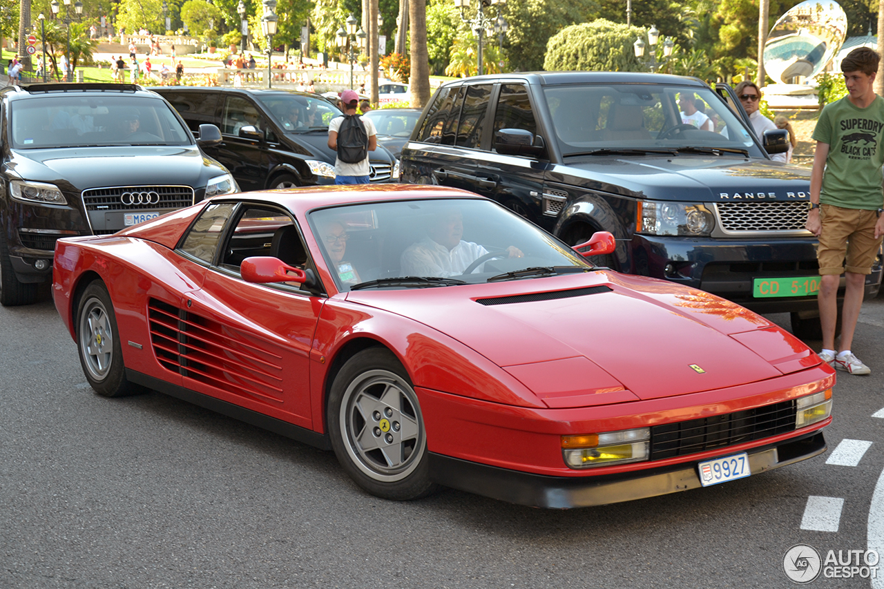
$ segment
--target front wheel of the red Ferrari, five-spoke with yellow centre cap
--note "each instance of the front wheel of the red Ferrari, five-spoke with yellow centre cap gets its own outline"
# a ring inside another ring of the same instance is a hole
[[[390,350],[368,348],[347,360],[331,385],[327,421],[339,463],[369,493],[408,501],[436,490],[421,407]]]

